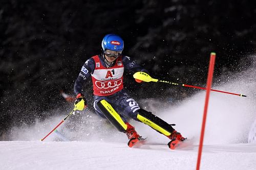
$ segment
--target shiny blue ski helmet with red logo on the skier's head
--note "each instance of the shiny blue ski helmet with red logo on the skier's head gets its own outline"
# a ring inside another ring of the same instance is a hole
[[[123,51],[123,40],[116,34],[107,34],[104,36],[101,47],[103,51],[112,50],[116,52]]]

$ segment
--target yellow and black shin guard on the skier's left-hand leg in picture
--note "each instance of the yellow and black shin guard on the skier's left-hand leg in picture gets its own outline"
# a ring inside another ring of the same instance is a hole
[[[111,104],[104,99],[96,103],[100,111],[120,132],[127,130],[127,125],[123,122],[121,116],[115,111]]]

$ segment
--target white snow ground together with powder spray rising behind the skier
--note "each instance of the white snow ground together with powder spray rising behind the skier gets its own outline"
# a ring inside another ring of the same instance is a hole
[[[255,68],[252,65],[212,87],[247,97],[210,93],[201,169],[256,169],[256,142],[247,142],[256,119]],[[72,115],[58,128],[70,141],[62,141],[57,133],[40,141],[67,111],[33,126],[14,127],[12,141],[0,141],[0,169],[195,169],[204,100],[205,91],[199,91],[167,109],[161,108],[161,101],[147,100],[152,102],[143,106],[176,124],[174,128],[190,139],[186,148],[168,149],[168,138],[133,120],[131,124],[147,142],[129,148],[125,134],[89,111]]]

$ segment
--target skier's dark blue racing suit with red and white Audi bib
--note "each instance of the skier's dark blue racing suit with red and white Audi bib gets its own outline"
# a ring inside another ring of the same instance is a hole
[[[123,89],[124,69],[147,72],[128,56],[118,57],[109,68],[106,67],[102,55],[93,56],[83,64],[74,84],[74,92],[76,95],[82,93],[84,84],[92,77],[94,109],[98,115],[105,118],[97,106],[97,102],[104,99],[111,103],[124,122],[127,122],[125,116],[137,120],[140,107]]]

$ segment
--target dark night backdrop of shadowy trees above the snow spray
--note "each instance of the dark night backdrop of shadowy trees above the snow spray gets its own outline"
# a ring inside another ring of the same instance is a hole
[[[119,34],[123,54],[152,77],[205,86],[210,52],[217,53],[214,83],[250,65],[255,16],[254,0],[1,1],[0,139],[13,125],[31,125],[56,108],[71,110],[59,91],[73,93],[81,66],[100,53],[105,34]],[[177,103],[196,91],[137,84],[131,72],[125,75],[136,100]],[[90,103],[92,88],[84,90]]]

